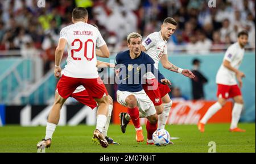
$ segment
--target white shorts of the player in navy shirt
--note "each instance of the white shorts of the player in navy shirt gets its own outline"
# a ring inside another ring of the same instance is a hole
[[[151,102],[150,98],[147,96],[144,90],[139,92],[128,92],[128,91],[117,91],[117,102],[122,106],[127,107],[127,103],[125,99],[129,95],[134,95],[137,99],[137,106],[139,107],[139,112],[141,112],[144,116],[152,116],[156,113],[155,106]]]

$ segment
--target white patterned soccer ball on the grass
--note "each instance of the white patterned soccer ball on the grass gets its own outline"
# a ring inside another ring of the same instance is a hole
[[[156,146],[166,146],[170,142],[171,137],[166,130],[158,129],[153,133],[152,140]]]

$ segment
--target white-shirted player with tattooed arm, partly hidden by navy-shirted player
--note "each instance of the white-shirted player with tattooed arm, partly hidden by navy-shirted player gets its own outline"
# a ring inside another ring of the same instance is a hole
[[[143,41],[142,51],[146,52],[155,61],[156,69],[158,69],[159,61],[161,61],[164,68],[172,72],[181,73],[186,77],[194,78],[195,75],[193,75],[190,70],[178,68],[168,61],[167,40],[175,32],[176,26],[177,23],[173,18],[168,17],[164,19],[161,30],[151,33],[146,37],[146,40]],[[158,89],[148,90],[149,84],[157,81],[152,73],[147,73],[146,79],[148,83],[143,85],[143,89],[154,103],[156,111],[159,114],[158,129],[164,129],[172,106],[172,100],[168,95],[168,92],[171,91],[170,87],[159,83]],[[144,117],[143,115],[140,116]],[[121,113],[119,117],[121,118],[121,123],[123,123],[121,124],[121,130],[125,133],[125,128],[129,123],[130,117],[126,113]]]

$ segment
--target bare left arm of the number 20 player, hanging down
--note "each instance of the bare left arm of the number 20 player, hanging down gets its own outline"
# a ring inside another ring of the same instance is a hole
[[[60,68],[60,62],[61,58],[64,53],[65,46],[67,44],[67,40],[61,38],[59,40],[58,46],[55,51],[55,69],[54,69],[54,75],[56,78],[59,78],[61,75],[61,68]]]

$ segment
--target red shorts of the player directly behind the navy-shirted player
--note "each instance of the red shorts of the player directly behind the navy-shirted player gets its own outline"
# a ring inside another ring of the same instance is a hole
[[[151,84],[148,84],[148,81],[151,81]],[[149,87],[152,87],[154,83],[158,83],[158,87],[154,89],[149,89]],[[142,85],[144,91],[150,98],[150,100],[154,103],[155,106],[160,106],[162,104],[162,97],[168,94],[168,92],[171,91],[170,87],[168,85],[164,85],[162,83],[159,83],[156,79],[150,79],[146,81],[146,84]]]

